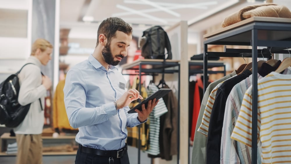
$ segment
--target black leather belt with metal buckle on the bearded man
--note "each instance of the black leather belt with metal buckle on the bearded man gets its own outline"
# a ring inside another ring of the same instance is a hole
[[[81,144],[79,144],[79,149],[83,153],[95,154],[98,156],[105,156],[105,157],[120,158],[120,157],[123,157],[124,154],[126,153],[127,144],[125,144],[125,147],[123,147],[120,150],[100,150],[100,149],[94,149],[94,148],[90,148],[90,147],[84,147]]]

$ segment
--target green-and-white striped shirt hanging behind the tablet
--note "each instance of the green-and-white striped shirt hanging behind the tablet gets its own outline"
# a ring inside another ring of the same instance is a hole
[[[155,84],[149,84],[147,88],[148,96],[155,93],[159,88],[155,86]],[[150,113],[150,146],[149,149],[146,150],[148,154],[158,155],[160,154],[159,147],[159,133],[160,133],[160,116],[168,112],[168,109],[164,103],[163,98],[159,99],[158,104],[154,107],[152,112]]]

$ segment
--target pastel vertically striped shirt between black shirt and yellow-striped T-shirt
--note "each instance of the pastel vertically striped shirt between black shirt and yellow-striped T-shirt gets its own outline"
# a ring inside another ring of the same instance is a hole
[[[258,80],[263,77],[258,74]],[[221,133],[220,163],[221,164],[240,164],[251,163],[251,147],[243,143],[230,139],[233,131],[244,93],[251,86],[253,75],[236,84],[231,90],[225,106],[223,127]],[[258,147],[260,149],[260,147]],[[261,163],[260,151],[258,150],[258,163]]]

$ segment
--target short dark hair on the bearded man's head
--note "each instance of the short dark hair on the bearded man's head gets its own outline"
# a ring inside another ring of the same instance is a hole
[[[106,20],[103,20],[97,31],[96,47],[99,44],[100,34],[103,33],[107,38],[107,44],[110,44],[111,38],[115,37],[116,31],[121,31],[129,35],[132,33],[132,27],[130,27],[128,23],[118,17],[110,17]]]

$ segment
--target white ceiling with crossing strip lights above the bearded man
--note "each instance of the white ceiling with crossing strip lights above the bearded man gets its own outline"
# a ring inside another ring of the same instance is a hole
[[[291,0],[273,0],[291,8]],[[107,17],[120,17],[134,32],[148,26],[170,27],[187,21],[190,31],[203,31],[220,24],[227,15],[263,0],[60,0],[60,27],[70,28],[71,37],[91,36]],[[85,21],[84,21],[85,20]],[[89,21],[86,21],[89,20]],[[76,33],[74,33],[76,32]]]

